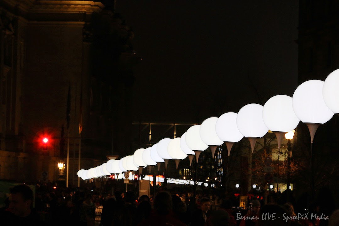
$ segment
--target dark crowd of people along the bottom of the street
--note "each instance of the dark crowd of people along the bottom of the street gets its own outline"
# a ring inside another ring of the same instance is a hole
[[[207,196],[197,197],[195,205],[168,191],[155,197],[137,197],[134,191],[106,195],[93,190],[62,190],[34,193],[27,185],[11,188],[6,207],[0,211],[1,225],[81,225],[81,226],[334,226],[339,210],[329,216],[305,218],[295,213],[291,203],[263,205],[251,200],[245,212],[234,211],[231,200],[213,205]],[[33,203],[35,208],[33,208]],[[102,207],[97,212],[98,206]]]

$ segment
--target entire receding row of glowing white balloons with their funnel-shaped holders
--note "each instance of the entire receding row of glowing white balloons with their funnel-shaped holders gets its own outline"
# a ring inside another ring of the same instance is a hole
[[[299,121],[319,125],[339,113],[338,87],[339,69],[328,75],[325,81],[309,80],[300,84],[293,97],[277,95],[267,100],[264,106],[251,103],[243,106],[238,114],[227,112],[219,118],[208,118],[201,125],[188,128],[181,138],[164,138],[152,147],[137,149],[134,155],[120,160],[108,160],[88,170],[80,169],[78,177],[86,180],[112,173],[135,171],[140,167],[167,163],[170,159],[175,159],[178,167],[179,160],[187,156],[192,164],[194,156],[196,155],[198,162],[200,152],[208,146],[214,155],[215,148],[224,142],[230,155],[232,145],[243,137],[250,140],[253,152],[256,139],[263,137],[268,130],[276,134],[280,148],[279,140],[282,140],[282,135],[295,129]],[[311,142],[314,133],[315,131],[311,132]]]

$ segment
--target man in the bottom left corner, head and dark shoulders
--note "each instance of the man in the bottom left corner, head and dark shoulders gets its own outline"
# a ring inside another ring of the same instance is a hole
[[[1,225],[41,225],[39,215],[32,208],[33,191],[27,185],[10,189],[9,207],[1,214]]]

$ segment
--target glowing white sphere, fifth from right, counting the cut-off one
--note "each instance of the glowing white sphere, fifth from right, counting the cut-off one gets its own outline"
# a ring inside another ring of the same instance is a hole
[[[237,143],[244,137],[237,127],[237,115],[235,112],[227,112],[218,118],[215,131],[222,141]]]

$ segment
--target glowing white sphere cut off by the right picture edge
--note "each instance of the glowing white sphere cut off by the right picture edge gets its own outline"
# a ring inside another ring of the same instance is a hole
[[[335,114],[339,113],[339,69],[327,76],[322,88],[325,104]]]

